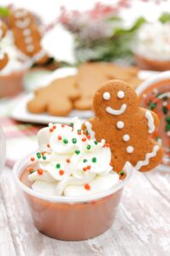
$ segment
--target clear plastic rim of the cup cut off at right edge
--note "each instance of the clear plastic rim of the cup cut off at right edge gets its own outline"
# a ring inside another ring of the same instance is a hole
[[[165,71],[153,75],[150,79],[147,79],[146,81],[144,81],[144,83],[139,85],[139,87],[136,89],[136,93],[140,96],[144,92],[144,90],[147,89],[151,84],[155,84],[166,79],[170,79],[170,71]]]

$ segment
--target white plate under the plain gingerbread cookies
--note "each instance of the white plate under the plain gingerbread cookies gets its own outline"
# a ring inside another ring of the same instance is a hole
[[[38,86],[44,86],[51,82],[53,79],[58,79],[61,77],[65,77],[68,75],[74,75],[77,73],[77,69],[73,67],[64,67],[59,68],[58,70],[54,71],[54,73],[50,74],[47,79],[44,79],[41,84],[38,84]],[[149,71],[141,71],[139,72],[139,78],[141,79],[147,79],[150,76],[154,75],[155,72],[149,72]],[[48,124],[48,123],[63,123],[63,124],[69,124],[71,123],[71,120],[73,117],[77,116],[79,119],[88,119],[92,116],[94,116],[93,111],[80,111],[80,110],[73,110],[67,117],[59,117],[59,116],[53,116],[49,115],[48,113],[30,113],[26,109],[26,104],[29,102],[33,97],[33,93],[30,93],[27,96],[23,96],[16,108],[14,108],[14,111],[12,112],[11,116],[12,118],[22,121],[22,122],[28,122],[28,123],[37,123],[37,124]]]

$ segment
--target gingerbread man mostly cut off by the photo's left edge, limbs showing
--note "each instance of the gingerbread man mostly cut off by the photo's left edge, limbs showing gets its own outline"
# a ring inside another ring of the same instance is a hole
[[[0,42],[5,37],[7,26],[0,20]],[[8,63],[8,55],[3,53],[0,49],[0,70],[2,70]]]

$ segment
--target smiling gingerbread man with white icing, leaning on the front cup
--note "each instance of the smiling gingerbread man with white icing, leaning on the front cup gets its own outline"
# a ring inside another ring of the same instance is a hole
[[[106,82],[94,95],[95,117],[85,123],[97,141],[111,147],[111,164],[117,172],[130,162],[147,172],[161,162],[162,148],[150,138],[159,125],[156,113],[139,108],[133,88],[120,81]]]

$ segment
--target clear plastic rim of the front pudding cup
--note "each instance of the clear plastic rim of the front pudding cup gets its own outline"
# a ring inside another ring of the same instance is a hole
[[[24,168],[26,168],[26,166],[28,166],[28,159],[30,159],[32,154],[35,154],[35,152],[26,155],[25,157],[21,158],[20,160],[18,160],[15,163],[14,168],[13,168],[14,181],[15,181],[15,183],[18,184],[20,189],[25,191],[27,194],[37,197],[38,199],[42,199],[44,201],[74,204],[74,203],[80,203],[80,202],[99,200],[105,196],[112,195],[116,191],[122,189],[127,184],[130,177],[132,177],[132,175],[133,175],[134,168],[133,168],[133,166],[131,166],[130,163],[127,162],[124,167],[124,169],[127,173],[127,177],[121,183],[118,183],[113,189],[109,189],[105,192],[101,192],[96,195],[81,196],[81,197],[42,195],[41,193],[38,193],[37,191],[34,191],[34,190],[28,188],[24,183],[22,183],[20,181],[20,173],[23,171]]]

